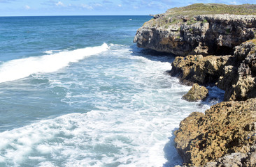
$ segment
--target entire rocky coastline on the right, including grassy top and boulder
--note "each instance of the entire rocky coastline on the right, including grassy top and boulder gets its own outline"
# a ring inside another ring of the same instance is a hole
[[[138,29],[138,47],[175,54],[171,76],[192,86],[183,99],[224,101],[191,113],[174,133],[184,166],[256,166],[256,5],[172,8]]]

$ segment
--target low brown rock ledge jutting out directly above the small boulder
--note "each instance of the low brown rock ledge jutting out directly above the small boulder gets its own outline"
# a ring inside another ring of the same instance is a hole
[[[225,65],[234,63],[234,56],[190,55],[175,58],[171,63],[171,76],[179,77],[183,84],[215,84],[224,72]]]

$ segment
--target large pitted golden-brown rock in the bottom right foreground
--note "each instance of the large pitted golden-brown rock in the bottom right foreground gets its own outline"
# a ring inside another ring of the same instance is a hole
[[[221,102],[211,106],[205,115],[192,113],[180,122],[180,129],[174,134],[176,149],[187,166],[204,166],[235,152],[241,153],[241,159],[255,163],[255,153],[248,152],[256,141],[256,98],[245,102]],[[246,154],[253,157],[245,159]],[[235,155],[220,162],[235,159]],[[239,160],[236,162],[239,164]]]

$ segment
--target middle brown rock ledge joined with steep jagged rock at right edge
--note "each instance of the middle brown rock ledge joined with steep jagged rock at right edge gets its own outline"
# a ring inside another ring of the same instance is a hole
[[[235,47],[234,56],[178,56],[171,65],[171,76],[183,84],[216,85],[225,90],[225,101],[256,97],[254,40]]]

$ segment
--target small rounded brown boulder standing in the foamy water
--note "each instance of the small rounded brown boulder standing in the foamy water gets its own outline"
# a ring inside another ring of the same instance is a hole
[[[192,88],[188,91],[186,95],[183,95],[183,100],[188,102],[197,102],[199,100],[205,100],[208,96],[208,89],[204,86],[199,86],[199,84],[193,84]]]

